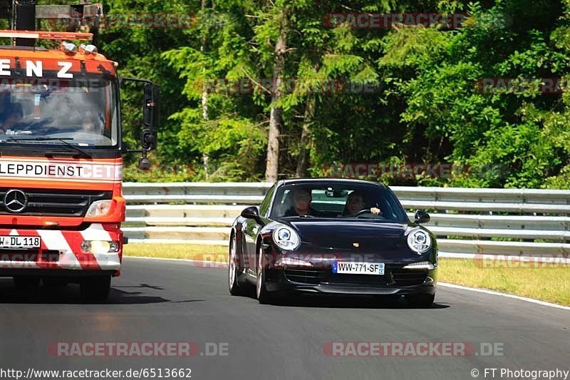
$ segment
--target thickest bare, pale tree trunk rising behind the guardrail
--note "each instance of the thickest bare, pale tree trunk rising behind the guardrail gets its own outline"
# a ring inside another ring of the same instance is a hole
[[[265,180],[275,182],[279,173],[279,135],[283,124],[283,110],[274,106],[282,96],[283,74],[285,70],[285,51],[287,48],[287,15],[281,11],[279,22],[279,37],[275,43],[275,63],[273,68],[273,83],[271,88],[271,112],[269,113],[269,136],[267,138],[267,164]]]

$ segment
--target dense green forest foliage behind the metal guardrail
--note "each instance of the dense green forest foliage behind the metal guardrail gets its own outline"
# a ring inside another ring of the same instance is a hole
[[[382,180],[570,188],[570,93],[477,86],[482,78],[568,79],[568,0],[104,4],[108,14],[196,16],[186,29],[111,28],[100,36],[123,75],[162,87],[153,159],[166,170],[145,174],[130,167],[130,180],[264,180],[269,121],[277,110],[279,177],[330,175],[330,165],[346,163],[453,163],[467,170],[447,178],[387,174]],[[347,12],[462,13],[468,19],[457,29],[331,27],[328,14]],[[276,76],[293,79],[287,83],[294,88],[274,96],[280,90],[264,83]],[[244,79],[254,83],[249,90],[230,86]],[[356,91],[331,91],[330,83]],[[358,92],[362,86],[369,91]],[[133,147],[138,94],[123,91]]]

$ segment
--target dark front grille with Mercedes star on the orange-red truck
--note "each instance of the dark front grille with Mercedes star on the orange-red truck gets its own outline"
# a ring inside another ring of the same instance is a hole
[[[98,190],[56,190],[56,189],[17,189],[26,194],[28,200],[21,212],[9,212],[4,197],[9,188],[0,188],[0,215],[39,215],[39,216],[85,216],[95,200],[108,200],[110,191]]]

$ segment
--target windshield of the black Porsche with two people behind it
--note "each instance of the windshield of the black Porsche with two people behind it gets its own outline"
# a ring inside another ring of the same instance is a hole
[[[403,207],[390,190],[361,183],[281,186],[271,207],[271,217],[409,222]]]

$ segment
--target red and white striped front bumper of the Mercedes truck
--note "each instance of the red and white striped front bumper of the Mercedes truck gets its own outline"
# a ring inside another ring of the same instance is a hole
[[[0,229],[0,235],[41,237],[40,250],[0,250],[0,269],[72,269],[119,271],[123,252],[123,232],[105,230],[92,224],[86,230]],[[118,252],[91,253],[81,250],[83,241],[118,242]]]

